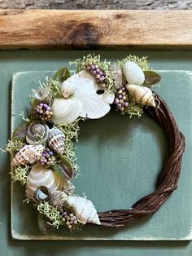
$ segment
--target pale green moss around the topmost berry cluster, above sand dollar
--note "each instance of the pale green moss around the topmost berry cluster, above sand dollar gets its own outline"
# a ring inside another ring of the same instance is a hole
[[[83,59],[75,60],[70,64],[74,64],[76,66],[76,73],[79,73],[81,70],[84,70],[85,64],[87,64],[88,62],[93,62],[94,64],[97,64],[99,68],[102,68],[105,71],[107,90],[108,92],[115,91],[114,80],[111,73],[111,62],[107,60],[101,60],[100,55],[89,54],[87,56],[84,56]]]

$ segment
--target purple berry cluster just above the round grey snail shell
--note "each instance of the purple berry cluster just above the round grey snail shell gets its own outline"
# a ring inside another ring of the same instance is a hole
[[[45,103],[38,104],[35,108],[35,117],[41,121],[50,121],[52,115],[50,106]]]

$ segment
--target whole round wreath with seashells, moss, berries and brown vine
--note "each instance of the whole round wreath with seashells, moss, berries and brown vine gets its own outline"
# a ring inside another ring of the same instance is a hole
[[[154,214],[177,188],[185,138],[168,105],[153,90],[160,76],[147,57],[129,55],[110,63],[90,54],[73,63],[76,71],[60,68],[30,95],[31,110],[12,133],[5,151],[11,152],[11,179],[25,186],[27,201],[38,211],[41,232],[60,225],[71,231],[86,223],[122,227]],[[122,115],[146,113],[161,126],[169,142],[169,157],[155,192],[128,210],[97,212],[86,197],[76,196],[72,179],[78,174],[74,142],[79,122],[105,116],[111,108]]]

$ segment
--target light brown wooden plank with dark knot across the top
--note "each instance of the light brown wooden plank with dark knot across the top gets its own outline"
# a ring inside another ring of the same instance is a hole
[[[0,49],[192,49],[192,11],[1,10]]]

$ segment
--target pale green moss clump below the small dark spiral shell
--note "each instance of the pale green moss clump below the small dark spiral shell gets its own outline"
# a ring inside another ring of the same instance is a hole
[[[41,202],[37,205],[37,210],[40,214],[44,214],[46,218],[50,219],[50,225],[56,227],[57,229],[62,224],[62,217],[59,214],[59,210],[55,207],[49,205],[48,202]]]

